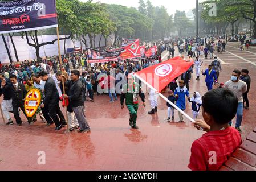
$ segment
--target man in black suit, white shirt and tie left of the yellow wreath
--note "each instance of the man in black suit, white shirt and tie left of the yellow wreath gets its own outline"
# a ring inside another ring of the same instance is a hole
[[[17,81],[17,76],[10,76],[11,84],[6,84],[6,82],[2,82],[1,87],[2,90],[6,90],[11,94],[12,105],[13,105],[13,114],[17,125],[22,125],[21,117],[19,117],[19,108],[25,114],[25,106],[24,106],[24,98],[27,95],[27,91],[25,86]],[[27,116],[26,116],[27,117]],[[27,120],[31,122],[31,118],[27,117]]]

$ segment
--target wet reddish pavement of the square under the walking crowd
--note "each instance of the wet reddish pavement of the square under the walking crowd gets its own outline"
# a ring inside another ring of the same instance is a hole
[[[233,47],[231,47],[233,46]],[[229,43],[227,51],[217,55],[223,61],[220,82],[230,79],[233,69],[249,69],[252,80],[249,93],[250,110],[245,110],[242,122],[242,137],[256,127],[256,47],[250,52],[240,52],[238,43]],[[162,56],[166,59],[168,53]],[[202,57],[201,57],[202,59]],[[205,60],[203,69],[210,59]],[[196,80],[192,74],[190,93],[206,92],[204,78]],[[148,97],[146,95],[146,97]],[[2,97],[1,97],[2,101]],[[149,115],[149,100],[144,108],[140,101],[137,125],[139,130],[129,128],[129,113],[120,108],[118,101],[109,103],[109,97],[95,96],[95,102],[86,102],[86,115],[91,133],[67,133],[46,127],[38,117],[33,125],[6,126],[0,119],[0,169],[1,170],[188,170],[192,142],[204,134],[192,123],[167,122],[166,102],[159,98],[159,111]],[[187,111],[192,116],[191,105]],[[63,112],[64,113],[64,112]],[[13,114],[12,118],[13,118]],[[233,123],[234,125],[234,123]],[[46,164],[39,165],[40,151],[46,154]],[[38,153],[39,152],[39,153]]]

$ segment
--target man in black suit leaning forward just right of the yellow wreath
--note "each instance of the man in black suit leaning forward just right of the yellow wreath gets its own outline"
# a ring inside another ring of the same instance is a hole
[[[45,71],[42,71],[38,75],[41,80],[46,81],[46,84],[44,85],[44,100],[41,104],[42,108],[46,108],[48,113],[50,114],[52,120],[55,123],[55,130],[60,130],[66,123],[60,123],[60,119],[57,116],[62,115],[61,117],[64,118],[62,111],[59,107],[59,93],[56,88],[55,82],[51,77],[48,77],[48,73]],[[50,125],[50,124],[49,124]]]

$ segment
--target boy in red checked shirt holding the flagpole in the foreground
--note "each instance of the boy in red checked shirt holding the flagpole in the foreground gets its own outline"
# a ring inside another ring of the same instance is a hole
[[[192,171],[219,170],[241,145],[241,135],[229,127],[237,105],[237,97],[224,88],[211,90],[202,97],[204,121],[197,120],[194,126],[208,133],[192,144],[188,165]]]

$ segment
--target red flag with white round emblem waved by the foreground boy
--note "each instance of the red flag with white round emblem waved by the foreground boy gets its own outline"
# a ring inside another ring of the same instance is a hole
[[[186,62],[181,57],[175,57],[136,72],[135,77],[144,80],[158,92],[161,92],[171,81],[185,73],[193,63],[193,61]]]

